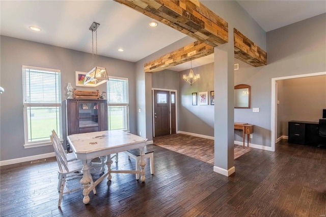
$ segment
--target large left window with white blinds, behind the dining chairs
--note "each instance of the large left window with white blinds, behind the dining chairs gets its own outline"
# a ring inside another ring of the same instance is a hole
[[[22,66],[25,148],[49,145],[51,130],[62,138],[61,72]]]

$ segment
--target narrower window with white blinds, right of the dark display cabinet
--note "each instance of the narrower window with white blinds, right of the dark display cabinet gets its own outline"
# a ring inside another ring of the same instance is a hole
[[[106,85],[108,129],[129,130],[128,78],[109,77]]]

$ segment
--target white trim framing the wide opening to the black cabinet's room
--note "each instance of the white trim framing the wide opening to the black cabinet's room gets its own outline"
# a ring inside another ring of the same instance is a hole
[[[275,151],[275,144],[277,140],[277,80],[286,80],[291,78],[298,77],[311,77],[318,75],[326,75],[326,72],[316,72],[309,74],[298,74],[298,75],[290,75],[285,77],[274,77],[271,78],[271,151]]]

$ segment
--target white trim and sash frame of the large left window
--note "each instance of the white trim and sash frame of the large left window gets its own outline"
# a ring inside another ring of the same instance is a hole
[[[29,135],[28,135],[28,107],[59,107],[59,129],[60,129],[60,141],[63,142],[63,131],[62,131],[62,103],[27,103],[25,102],[25,94],[26,94],[26,84],[24,78],[24,70],[25,69],[32,69],[32,70],[40,70],[40,71],[50,71],[50,72],[56,72],[60,73],[60,87],[59,87],[59,97],[60,101],[62,101],[62,85],[61,85],[61,70],[58,69],[49,69],[49,68],[41,68],[41,67],[34,67],[34,66],[25,66],[22,65],[21,71],[22,71],[22,94],[23,94],[23,125],[24,125],[24,144],[23,147],[26,148],[35,148],[35,147],[42,147],[42,146],[50,146],[52,145],[50,138],[48,140],[40,140],[37,142],[29,142]],[[49,132],[50,134],[50,132]]]

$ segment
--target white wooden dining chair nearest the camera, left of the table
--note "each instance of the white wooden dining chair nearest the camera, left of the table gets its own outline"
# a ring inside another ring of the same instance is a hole
[[[72,180],[72,179],[76,179],[76,177],[80,177],[80,171],[83,169],[83,164],[81,160],[73,160],[73,161],[67,161],[67,159],[65,158],[64,154],[61,154],[61,150],[59,148],[60,142],[58,143],[58,141],[53,137],[53,135],[50,135],[50,139],[53,145],[53,148],[55,149],[55,154],[56,154],[56,158],[57,158],[57,162],[58,162],[58,166],[59,166],[59,185],[60,185],[60,189],[59,189],[59,202],[58,202],[58,207],[61,206],[61,201],[62,201],[62,197],[64,194],[68,194],[74,191],[77,191],[80,188],[83,188],[82,185],[80,185],[77,188],[74,189],[69,189],[68,186],[68,181]],[[80,177],[81,178],[81,177]],[[91,184],[93,184],[93,179],[91,177]],[[96,194],[96,190],[95,188],[93,188],[93,193],[94,195]]]

